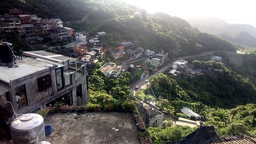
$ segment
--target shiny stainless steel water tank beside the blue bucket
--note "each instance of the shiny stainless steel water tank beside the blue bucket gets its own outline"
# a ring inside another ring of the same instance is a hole
[[[34,144],[45,140],[44,118],[27,113],[14,119],[10,125],[14,144]]]

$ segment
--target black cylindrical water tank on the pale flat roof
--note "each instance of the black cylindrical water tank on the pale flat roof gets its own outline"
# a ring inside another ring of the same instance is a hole
[[[2,42],[0,44],[0,61],[4,64],[9,64],[14,61],[14,54],[11,43]]]

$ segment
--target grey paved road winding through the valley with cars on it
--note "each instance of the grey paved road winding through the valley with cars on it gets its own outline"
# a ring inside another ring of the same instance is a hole
[[[213,53],[214,51],[209,51],[209,52],[204,52],[204,53],[200,53],[200,54],[194,54],[194,55],[187,55],[187,56],[184,56],[184,57],[179,57],[181,59],[185,59],[185,58],[191,58],[191,57],[198,57],[198,56],[202,56],[202,55],[206,55],[206,54],[211,54]],[[172,64],[173,62],[178,59],[178,58],[174,58],[168,65],[162,67],[161,69],[159,69],[158,71],[156,71],[153,75],[156,76],[158,75],[159,73],[163,73],[164,71],[166,71]],[[129,85],[131,90],[132,91],[135,91],[135,93],[140,90],[140,89],[144,89],[146,87],[146,83],[145,81],[148,80],[149,77],[147,78],[143,78],[143,79],[140,79],[138,81],[136,81],[135,83]],[[138,89],[135,89],[135,87],[139,87]]]

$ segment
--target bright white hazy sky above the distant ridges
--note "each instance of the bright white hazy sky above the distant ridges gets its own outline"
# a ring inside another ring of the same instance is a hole
[[[177,17],[217,17],[228,23],[256,27],[256,0],[123,0],[148,13],[164,12]]]

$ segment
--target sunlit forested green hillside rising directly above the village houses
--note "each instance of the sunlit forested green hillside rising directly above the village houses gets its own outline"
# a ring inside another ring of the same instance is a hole
[[[153,51],[163,49],[172,56],[196,54],[204,51],[225,50],[234,51],[236,47],[230,42],[218,37],[191,29],[189,24],[180,18],[165,14],[134,15],[126,19],[118,16],[132,15],[134,6],[113,0],[3,0],[0,13],[6,13],[8,8],[21,8],[24,13],[37,14],[40,17],[58,17],[64,21],[79,21],[88,15],[90,20],[101,20],[93,32],[105,31],[103,44],[116,45],[118,42],[134,41],[141,47]],[[12,5],[10,4],[12,3]],[[112,18],[115,18],[112,20]],[[106,19],[104,21],[104,19]],[[103,22],[102,22],[103,20]],[[108,21],[109,20],[109,21]],[[87,22],[71,22],[67,26],[75,31],[88,31],[97,24]],[[186,27],[184,27],[186,26]]]

